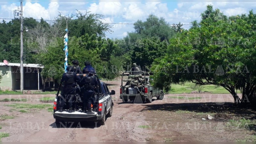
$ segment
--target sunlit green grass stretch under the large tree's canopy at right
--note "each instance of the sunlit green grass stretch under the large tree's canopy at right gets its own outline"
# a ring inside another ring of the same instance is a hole
[[[173,94],[181,94],[181,93],[191,93],[193,91],[201,91],[201,92],[210,92],[212,94],[229,94],[229,92],[223,87],[216,85],[204,85],[204,86],[195,86],[194,83],[185,83],[181,84],[172,84],[171,90],[169,93]],[[240,91],[237,91],[240,93]]]

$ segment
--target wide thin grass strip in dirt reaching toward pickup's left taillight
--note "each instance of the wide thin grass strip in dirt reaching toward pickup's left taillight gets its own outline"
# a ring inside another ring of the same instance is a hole
[[[32,109],[32,108],[36,108],[36,109],[44,109],[44,108],[49,108],[52,107],[52,105],[50,104],[23,104],[23,103],[15,103],[15,104],[9,104],[9,105],[5,105],[8,107],[13,107],[13,108],[28,108],[28,109]]]

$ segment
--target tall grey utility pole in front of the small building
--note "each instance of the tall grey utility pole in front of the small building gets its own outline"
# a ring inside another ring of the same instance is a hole
[[[23,92],[23,11],[20,2],[20,92]]]

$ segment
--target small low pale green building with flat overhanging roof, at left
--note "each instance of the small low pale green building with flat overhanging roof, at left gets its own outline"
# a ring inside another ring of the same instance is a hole
[[[44,66],[40,64],[23,64],[23,89],[41,90],[43,88],[40,72]],[[5,65],[0,62],[1,90],[20,90],[20,63]]]

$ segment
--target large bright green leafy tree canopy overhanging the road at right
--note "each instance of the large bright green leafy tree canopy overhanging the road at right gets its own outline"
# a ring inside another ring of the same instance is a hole
[[[202,13],[202,21],[170,40],[164,58],[152,67],[154,84],[168,91],[170,84],[192,81],[223,86],[239,102],[256,91],[256,15],[227,18],[218,9]]]

